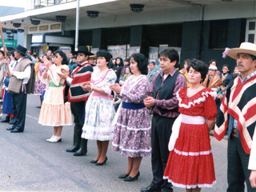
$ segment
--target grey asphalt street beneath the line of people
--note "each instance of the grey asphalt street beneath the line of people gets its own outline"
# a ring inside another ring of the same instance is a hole
[[[126,170],[127,159],[108,150],[105,166],[94,166],[90,160],[97,155],[95,141],[88,142],[88,153],[74,157],[66,149],[73,144],[73,126],[65,126],[62,142],[46,142],[53,127],[38,124],[39,96],[28,95],[24,133],[12,134],[0,123],[0,191],[140,191],[152,180],[150,157],[142,159],[141,176],[137,181],[118,178]],[[211,137],[217,184],[202,191],[226,191],[226,146]],[[185,191],[174,188],[174,191]]]

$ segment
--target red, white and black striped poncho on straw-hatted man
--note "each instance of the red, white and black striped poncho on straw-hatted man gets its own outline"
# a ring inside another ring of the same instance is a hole
[[[225,135],[228,114],[238,121],[242,147],[246,154],[250,154],[256,122],[256,75],[246,82],[235,78],[233,85],[226,90],[214,128],[214,136],[218,140]]]

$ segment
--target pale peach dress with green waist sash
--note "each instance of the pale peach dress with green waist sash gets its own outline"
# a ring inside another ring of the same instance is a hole
[[[42,78],[42,82],[49,82],[49,84],[42,102],[38,123],[43,126],[70,126],[72,125],[70,102],[64,103],[63,96],[65,79],[57,74],[61,73],[62,68],[69,70],[69,67],[66,65],[51,67],[52,74],[49,70],[47,78]]]

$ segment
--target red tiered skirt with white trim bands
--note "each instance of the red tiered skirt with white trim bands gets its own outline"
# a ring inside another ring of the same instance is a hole
[[[214,185],[214,158],[206,123],[190,125],[182,122],[163,178],[174,186],[188,189]]]

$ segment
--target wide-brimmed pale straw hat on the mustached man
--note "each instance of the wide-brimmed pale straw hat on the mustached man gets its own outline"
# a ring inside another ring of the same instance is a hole
[[[230,58],[237,59],[238,54],[252,54],[256,56],[256,45],[251,42],[242,42],[240,47],[230,49],[227,53]]]

